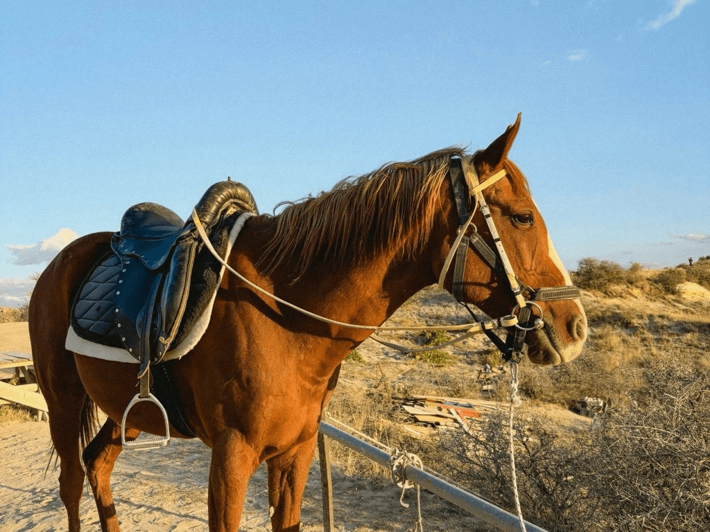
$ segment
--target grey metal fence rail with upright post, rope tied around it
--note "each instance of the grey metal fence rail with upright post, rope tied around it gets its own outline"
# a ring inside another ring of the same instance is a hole
[[[324,436],[336,440],[338,443],[342,443],[347,448],[354,450],[356,453],[364,455],[373,462],[378,463],[383,467],[389,467],[390,455],[385,451],[376,448],[374,445],[370,445],[359,438],[355,438],[350,434],[341,431],[339,428],[335,428],[324,421],[320,423],[320,434],[319,438],[319,449],[321,455],[321,476],[323,481],[323,512],[325,530],[327,532],[332,531],[332,487],[330,485],[330,473],[329,465],[327,462],[327,441]],[[327,473],[326,473],[327,470]],[[452,486],[448,482],[430,475],[425,470],[416,467],[415,465],[407,465],[405,467],[405,473],[408,480],[416,482],[424,489],[438,495],[442,499],[456,504],[459,508],[468,511],[474,516],[486,521],[486,523],[496,526],[496,528],[506,531],[506,532],[518,532],[520,531],[520,521],[518,516],[510,514],[510,512],[505,511],[488,501],[484,501],[479,497],[476,497],[469,492],[464,492],[463,489],[459,489]],[[528,532],[547,532],[544,528],[540,528],[532,523],[525,521],[525,528]]]

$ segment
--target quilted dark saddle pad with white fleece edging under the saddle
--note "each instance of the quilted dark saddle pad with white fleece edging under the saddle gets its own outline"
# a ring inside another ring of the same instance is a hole
[[[251,216],[254,215],[237,213],[228,216],[222,228],[214,233],[211,240],[222,257],[229,256],[244,223]],[[182,358],[202,338],[209,325],[224,270],[224,266],[203,245],[195,258],[185,316],[163,360]],[[120,272],[120,259],[112,251],[103,255],[92,268],[75,299],[72,323],[65,342],[67,350],[104,360],[139,362],[124,349],[114,323],[114,297]]]

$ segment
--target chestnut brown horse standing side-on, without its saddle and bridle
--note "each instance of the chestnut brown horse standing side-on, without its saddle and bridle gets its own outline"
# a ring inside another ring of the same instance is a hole
[[[518,278],[534,287],[569,285],[525,178],[507,158],[519,123],[520,116],[476,153],[474,167],[481,182],[506,171],[484,195]],[[291,204],[278,216],[253,217],[229,265],[303,309],[346,323],[379,325],[437,281],[459,226],[449,169],[452,158],[465,155],[450,148],[387,165]],[[474,223],[493,245],[480,211]],[[94,233],[67,245],[43,272],[30,304],[35,369],[60,459],[60,496],[70,531],[80,528],[85,476],[102,530],[119,530],[109,477],[121,452],[120,420],[136,393],[136,365],[65,349],[72,297],[110,238],[111,233]],[[505,276],[473,249],[467,258],[462,299],[491,316],[510,314],[515,300]],[[444,287],[452,289],[452,272]],[[544,327],[525,333],[530,360],[550,364],[576,357],[586,338],[579,299],[539,305]],[[239,529],[247,482],[264,460],[273,530],[299,530],[320,416],[340,363],[371,332],[315,321],[224,275],[207,331],[174,366],[185,417],[212,448],[210,531]],[[97,406],[108,420],[92,439]],[[155,406],[131,410],[128,439],[163,430]],[[172,426],[170,435],[185,437]]]

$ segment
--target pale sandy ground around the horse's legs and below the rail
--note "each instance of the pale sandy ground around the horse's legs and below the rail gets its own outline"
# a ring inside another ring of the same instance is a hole
[[[66,529],[59,497],[58,470],[48,465],[47,423],[23,422],[0,427],[0,531],[45,532]],[[123,531],[187,532],[207,530],[209,449],[199,440],[173,441],[160,450],[123,453],[111,476],[116,512]],[[406,531],[415,522],[415,492],[409,509],[399,504],[394,485],[376,485],[333,475],[337,530]],[[470,529],[474,518],[422,491],[422,514],[429,531]],[[82,530],[100,529],[90,489],[81,502]],[[322,496],[317,460],[312,464],[302,509],[302,530],[322,531]],[[271,531],[266,468],[251,478],[240,531]]]

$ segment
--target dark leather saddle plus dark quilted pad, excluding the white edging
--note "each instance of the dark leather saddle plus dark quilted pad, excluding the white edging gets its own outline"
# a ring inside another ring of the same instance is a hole
[[[195,211],[222,255],[236,218],[258,214],[249,189],[232,181],[209,187]],[[192,219],[184,223],[158,204],[134,205],[77,292],[72,328],[94,343],[128,350],[141,363],[140,377],[190,332],[217,290],[220,270]]]

